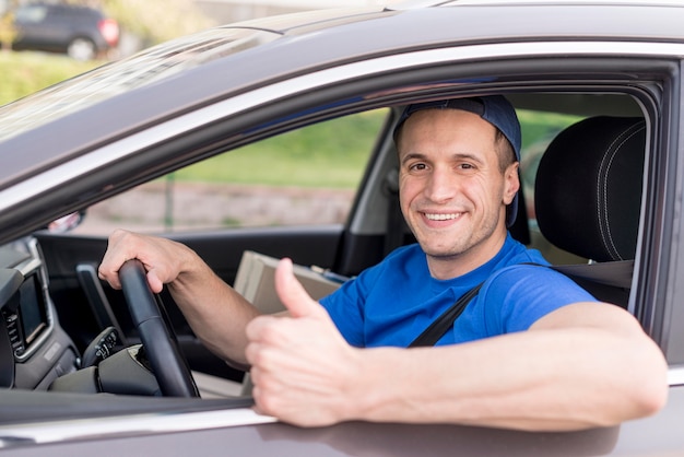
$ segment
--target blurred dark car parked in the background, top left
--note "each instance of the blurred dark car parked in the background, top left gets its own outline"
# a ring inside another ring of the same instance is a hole
[[[73,4],[25,3],[13,12],[14,50],[62,52],[92,60],[115,50],[119,25],[101,10]]]

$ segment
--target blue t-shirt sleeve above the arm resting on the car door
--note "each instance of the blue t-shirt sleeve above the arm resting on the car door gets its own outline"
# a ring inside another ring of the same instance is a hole
[[[541,266],[503,269],[485,283],[481,294],[491,335],[527,330],[545,315],[573,303],[598,303],[570,278]]]

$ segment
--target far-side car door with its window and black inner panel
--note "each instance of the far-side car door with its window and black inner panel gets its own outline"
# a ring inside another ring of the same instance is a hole
[[[66,233],[42,231],[36,236],[48,259],[50,293],[59,314],[70,316],[62,325],[81,350],[108,326],[123,341],[137,341],[122,294],[97,278],[107,236],[116,228],[182,243],[228,284],[246,250],[330,269],[386,116],[387,110],[351,116],[270,139],[263,148],[231,151],[93,206]],[[326,151],[318,151],[326,140]],[[166,292],[162,297],[190,366],[241,377],[204,350]]]

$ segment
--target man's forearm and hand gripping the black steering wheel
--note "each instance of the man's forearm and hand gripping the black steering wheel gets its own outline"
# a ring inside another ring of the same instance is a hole
[[[109,237],[99,277],[120,289],[118,271],[139,259],[153,292],[168,285],[174,301],[202,342],[219,356],[245,365],[245,327],[259,312],[223,282],[189,247],[166,238],[118,230]]]

